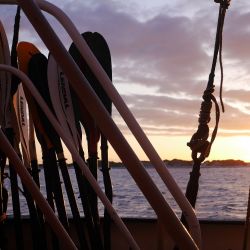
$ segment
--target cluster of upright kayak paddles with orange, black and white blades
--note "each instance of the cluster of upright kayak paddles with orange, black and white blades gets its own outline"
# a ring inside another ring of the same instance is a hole
[[[18,11],[20,13],[20,9]],[[18,21],[16,21],[16,23],[18,23]],[[112,185],[109,175],[108,143],[106,138],[101,134],[91,114],[89,114],[81,102],[78,101],[77,95],[70,88],[70,83],[54,60],[53,55],[49,54],[47,59],[32,43],[19,42],[17,44],[18,27],[16,27],[15,30],[15,41],[12,46],[14,53],[12,56],[12,65],[18,67],[19,70],[23,71],[31,79],[50,110],[56,116],[64,132],[69,138],[72,138],[75,147],[85,161],[82,147],[83,133],[81,131],[81,128],[84,128],[88,145],[88,159],[86,162],[96,179],[98,169],[98,142],[101,138],[101,171],[103,173],[105,193],[112,202]],[[105,39],[99,33],[92,32],[86,32],[82,36],[110,79],[112,79],[111,56]],[[10,58],[10,55],[3,55],[3,53],[8,51],[8,42],[3,28],[1,28],[1,38],[0,53],[2,54],[0,55],[0,60],[3,61],[0,63],[10,65],[10,62],[6,61],[6,58]],[[110,99],[74,44],[70,46],[69,53],[111,115]],[[105,209],[102,230],[100,227],[97,196],[82,175],[78,165],[73,163],[81,205],[86,219],[87,230],[85,231],[77,202],[78,197],[75,196],[73,190],[60,136],[47,119],[46,114],[37,104],[32,93],[22,85],[19,79],[11,79],[9,74],[1,73],[0,94],[1,129],[8,137],[25,167],[40,188],[39,167],[35,146],[36,135],[42,151],[47,200],[51,208],[58,214],[58,218],[66,231],[70,232],[68,214],[64,205],[65,199],[68,199],[77,233],[78,248],[96,250],[111,249],[111,219]],[[3,181],[3,178],[7,175],[5,173],[6,156],[2,152],[0,152],[0,164],[0,248],[5,249],[3,222],[7,209],[8,194]],[[33,249],[48,249],[51,245],[53,249],[60,249],[61,246],[56,235],[51,231],[51,236],[47,236],[42,212],[35,204],[25,186],[22,185],[22,188],[19,187],[20,184],[18,183],[17,175],[11,166],[9,167],[9,178],[15,221],[16,248],[25,248],[19,198],[21,190],[27,201],[30,214]],[[67,197],[64,197],[62,185],[65,187]],[[51,242],[48,242],[48,239],[51,239]]]

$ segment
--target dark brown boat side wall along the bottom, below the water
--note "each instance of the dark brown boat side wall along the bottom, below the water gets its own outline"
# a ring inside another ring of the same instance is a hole
[[[156,219],[123,219],[128,229],[135,237],[142,250],[172,250],[173,243],[170,238],[161,237],[161,230]],[[24,227],[24,242],[25,249],[32,249],[30,240],[29,219],[22,220]],[[83,219],[84,223],[84,219]],[[71,236],[76,240],[74,227],[71,224]],[[239,250],[243,244],[243,221],[200,221],[203,250]],[[8,249],[16,249],[14,235],[14,221],[9,218],[6,221],[6,236],[8,239]],[[127,250],[128,244],[122,234],[117,230],[115,225],[112,225],[112,249]]]

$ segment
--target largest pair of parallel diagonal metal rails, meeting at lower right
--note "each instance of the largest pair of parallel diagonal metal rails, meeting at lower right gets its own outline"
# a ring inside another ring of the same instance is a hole
[[[111,145],[116,150],[125,166],[128,168],[130,174],[136,181],[138,187],[144,193],[152,208],[155,210],[159,221],[162,222],[169,235],[176,241],[181,249],[200,249],[201,240],[199,223],[196,219],[193,208],[186,200],[184,194],[166,169],[165,164],[162,162],[159,155],[145,136],[143,130],[136,122],[132,113],[129,111],[126,104],[116,89],[113,87],[111,81],[94,57],[91,50],[88,48],[86,42],[82,38],[80,39],[80,34],[77,32],[76,28],[74,28],[74,25],[72,25],[71,22],[67,22],[68,25],[66,26],[64,21],[68,21],[69,19],[67,19],[67,17],[62,14],[63,12],[60,12],[58,8],[53,7],[52,4],[45,1],[0,0],[0,3],[19,4],[22,7],[28,19],[40,35],[41,39],[58,61],[67,78],[70,80],[76,93],[81,93],[82,97],[84,97],[81,98],[82,103],[85,105],[86,109],[88,109],[88,111],[93,114],[98,126],[106,135]],[[43,16],[39,7],[50,12],[51,14],[53,13],[54,16],[60,19],[61,23],[64,23],[65,29],[72,37],[82,56],[85,59],[87,58],[86,61],[89,63],[89,66],[95,73],[100,83],[103,84],[107,94],[110,96],[128,127],[144,149],[151,163],[156,168],[157,172],[164,180],[166,186],[176,199],[177,203],[186,216],[192,236],[190,236],[190,234],[187,232],[185,227],[182,225],[176,214],[172,211],[156,187],[155,183],[149,177],[139,159],[131,149],[130,145],[127,143],[124,136],[110,118],[110,115],[106,112],[105,108],[100,103],[93,90],[90,88],[87,79],[83,76],[83,74],[68,55],[61,41],[47,22],[46,18]],[[57,15],[55,13],[59,14]],[[62,21],[63,19],[64,21]],[[5,68],[5,70],[7,70],[7,68]],[[123,147],[121,147],[121,144]],[[75,157],[77,158],[77,155]]]

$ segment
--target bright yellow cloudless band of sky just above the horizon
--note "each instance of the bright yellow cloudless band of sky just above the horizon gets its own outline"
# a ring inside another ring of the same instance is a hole
[[[140,160],[148,160],[143,150],[132,136],[126,137],[133,150],[136,152]],[[187,146],[189,136],[150,136],[151,143],[155,147],[156,151],[160,155],[162,160],[192,160],[191,150]],[[38,161],[42,163],[41,152],[39,149],[39,143],[37,143]],[[87,157],[86,145],[84,145],[85,156]],[[65,156],[68,159],[67,162],[71,163],[71,156],[64,146]],[[100,158],[100,152],[99,152]],[[250,162],[250,136],[232,136],[232,137],[217,137],[209,157],[206,160],[225,160],[235,159]],[[120,158],[115,153],[114,149],[109,145],[109,160],[120,162]]]

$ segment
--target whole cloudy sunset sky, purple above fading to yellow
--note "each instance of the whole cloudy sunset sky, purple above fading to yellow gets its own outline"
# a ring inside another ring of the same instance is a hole
[[[52,1],[50,1],[52,2]],[[54,0],[80,32],[97,31],[107,40],[113,83],[162,159],[191,160],[186,143],[197,129],[201,96],[211,68],[219,5],[200,0]],[[1,20],[12,40],[14,6],[1,6]],[[48,15],[46,15],[48,16]],[[49,17],[66,48],[71,40]],[[20,40],[48,53],[22,13]],[[250,161],[250,4],[231,1],[223,33],[226,112],[209,160]],[[219,67],[216,71],[216,97]],[[113,117],[138,149],[122,119]],[[214,117],[214,113],[212,113]],[[210,131],[214,127],[210,123]],[[118,161],[111,153],[110,160]]]

